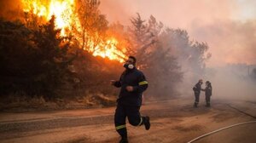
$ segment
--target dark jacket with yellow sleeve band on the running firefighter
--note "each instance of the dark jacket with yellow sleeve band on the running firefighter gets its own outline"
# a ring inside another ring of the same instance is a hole
[[[126,106],[142,106],[143,91],[148,88],[148,82],[143,72],[138,71],[137,68],[125,70],[119,78],[119,81],[114,83],[114,86],[121,88],[119,99],[117,100],[118,103]],[[132,86],[133,91],[127,91],[127,86]]]

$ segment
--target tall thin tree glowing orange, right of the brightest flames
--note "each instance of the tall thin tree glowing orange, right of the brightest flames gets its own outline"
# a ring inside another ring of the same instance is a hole
[[[97,45],[102,42],[103,34],[108,28],[108,20],[100,14],[99,5],[100,2],[95,0],[79,0],[77,6],[80,20],[80,27],[76,29],[78,38],[81,39],[81,48],[89,52],[99,48]]]

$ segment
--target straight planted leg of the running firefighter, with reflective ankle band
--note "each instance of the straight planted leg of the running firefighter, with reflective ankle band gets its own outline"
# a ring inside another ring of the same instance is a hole
[[[124,106],[118,104],[114,113],[114,125],[116,131],[123,139],[127,139],[127,129],[125,125],[126,112]]]

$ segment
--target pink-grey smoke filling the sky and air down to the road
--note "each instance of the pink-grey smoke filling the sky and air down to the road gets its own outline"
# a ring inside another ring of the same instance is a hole
[[[212,57],[204,73],[195,72],[197,66],[191,71],[181,64],[184,95],[193,96],[192,87],[202,78],[212,82],[213,98],[255,100],[256,83],[250,75],[256,64],[255,6],[253,0],[104,0],[100,9],[108,20],[124,25],[130,25],[136,13],[152,14],[165,26],[188,31],[191,41],[208,44]]]

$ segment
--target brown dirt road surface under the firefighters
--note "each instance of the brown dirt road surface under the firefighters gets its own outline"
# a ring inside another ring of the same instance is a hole
[[[256,121],[256,101],[212,99],[198,108],[193,98],[146,102],[142,115],[148,115],[151,129],[132,127],[127,122],[131,143],[184,143],[213,130],[236,123]],[[57,112],[1,112],[1,143],[114,143],[115,107]],[[244,113],[243,113],[244,112]],[[244,124],[211,134],[195,143],[255,143],[256,123]]]

